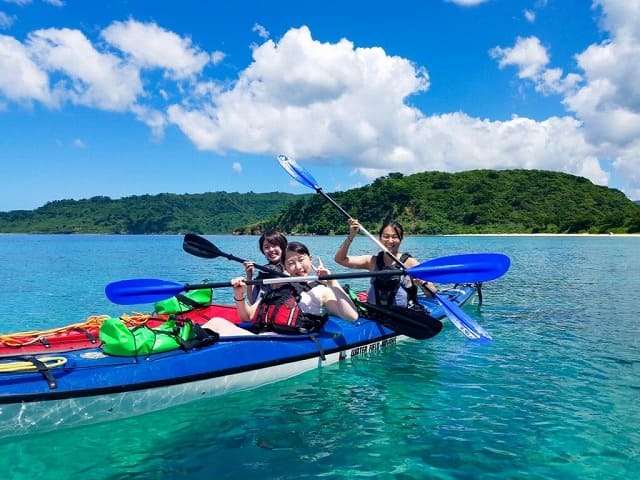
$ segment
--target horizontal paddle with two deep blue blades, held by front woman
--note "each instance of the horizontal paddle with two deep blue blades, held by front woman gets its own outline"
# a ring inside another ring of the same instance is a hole
[[[499,253],[468,253],[452,255],[429,260],[405,270],[410,275],[421,280],[440,283],[485,282],[504,275],[508,264],[504,255]],[[331,275],[308,275],[304,277],[278,277],[248,280],[247,285],[270,285],[276,283],[311,282],[321,280],[338,280],[345,278],[366,278],[398,275],[391,270],[376,272],[348,272]],[[168,280],[153,278],[138,278],[120,280],[110,283],[105,288],[107,298],[119,305],[153,303],[179,293],[197,290],[199,288],[230,287],[231,282],[181,284]]]

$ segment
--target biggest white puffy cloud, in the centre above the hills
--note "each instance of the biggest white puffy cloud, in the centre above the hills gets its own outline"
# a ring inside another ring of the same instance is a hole
[[[535,40],[501,55],[526,78],[549,72]],[[380,48],[322,43],[301,27],[265,42],[253,57],[228,90],[203,95],[197,106],[169,108],[169,120],[199,148],[340,158],[369,179],[390,171],[539,168],[608,181],[575,118],[425,116],[407,99],[428,89],[428,73]]]

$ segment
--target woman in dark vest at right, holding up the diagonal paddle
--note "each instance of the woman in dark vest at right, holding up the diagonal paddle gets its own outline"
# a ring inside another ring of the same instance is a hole
[[[396,262],[385,252],[376,255],[349,255],[349,247],[358,234],[360,223],[356,219],[349,219],[349,235],[340,245],[334,260],[339,265],[348,268],[360,268],[370,272],[378,270],[400,270]],[[419,262],[410,254],[399,252],[400,244],[404,237],[404,228],[396,221],[389,221],[382,225],[379,233],[380,243],[389,250],[394,257],[398,258],[405,267],[412,267]],[[431,292],[435,291],[435,286],[431,282],[422,282],[418,279],[411,279],[407,275],[394,275],[390,277],[372,277],[371,286],[367,301],[377,305],[398,305],[408,307],[417,304],[418,289],[420,285],[423,289]]]

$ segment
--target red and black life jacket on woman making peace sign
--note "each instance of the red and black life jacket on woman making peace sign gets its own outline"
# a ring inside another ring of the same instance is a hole
[[[320,282],[285,283],[273,286],[261,298],[254,314],[254,331],[273,331],[284,334],[311,333],[320,330],[327,315],[313,315],[300,310],[300,294],[308,292]]]

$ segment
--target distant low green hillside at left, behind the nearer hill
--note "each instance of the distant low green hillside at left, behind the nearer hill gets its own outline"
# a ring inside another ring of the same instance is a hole
[[[3,233],[230,233],[279,213],[299,195],[203,193],[59,200],[0,212]]]

